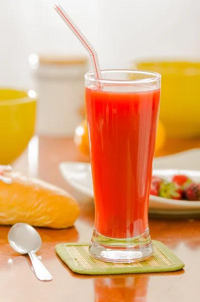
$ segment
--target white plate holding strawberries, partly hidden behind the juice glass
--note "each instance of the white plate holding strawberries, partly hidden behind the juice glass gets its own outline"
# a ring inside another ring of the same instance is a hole
[[[94,198],[90,164],[66,162],[61,163],[59,168],[64,179],[72,187],[84,195]],[[184,170],[180,168],[184,168]],[[188,168],[191,170],[187,170]],[[156,158],[154,160],[153,175],[161,176],[170,181],[173,175],[184,174],[192,180],[200,182],[200,171],[194,171],[194,169],[200,170],[199,148],[176,155]],[[200,213],[200,201],[173,200],[150,195],[149,210],[151,213],[162,214],[192,214],[197,213],[198,210]]]

